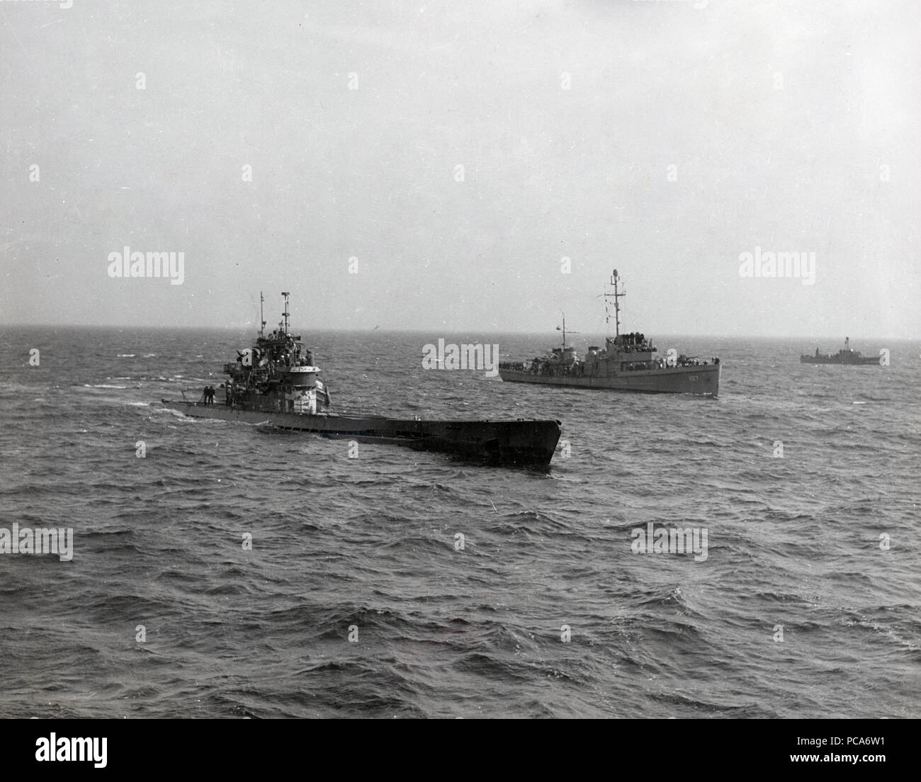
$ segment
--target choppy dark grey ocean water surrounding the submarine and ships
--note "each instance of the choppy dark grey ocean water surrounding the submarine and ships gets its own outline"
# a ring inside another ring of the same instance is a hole
[[[0,527],[74,537],[0,554],[0,715],[921,717],[921,344],[657,340],[721,356],[705,399],[424,371],[439,336],[550,346],[305,341],[340,410],[561,420],[549,473],[159,403],[251,334],[6,327]]]

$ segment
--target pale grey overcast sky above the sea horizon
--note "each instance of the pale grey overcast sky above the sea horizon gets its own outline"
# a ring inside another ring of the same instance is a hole
[[[0,0],[0,322],[921,335],[917,0],[68,5]]]

